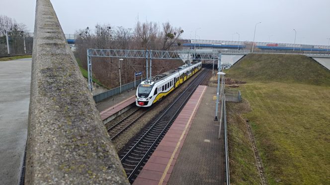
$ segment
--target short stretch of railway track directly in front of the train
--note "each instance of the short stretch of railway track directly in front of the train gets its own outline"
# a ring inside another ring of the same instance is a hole
[[[116,138],[119,134],[121,134],[124,130],[126,130],[130,125],[135,123],[137,120],[139,120],[144,114],[148,112],[149,109],[143,109],[139,108],[118,123],[114,124],[110,128],[108,128],[108,134],[113,140]]]

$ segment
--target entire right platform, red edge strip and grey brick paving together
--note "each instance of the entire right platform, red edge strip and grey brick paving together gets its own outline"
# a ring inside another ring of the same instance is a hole
[[[200,85],[133,185],[223,184],[223,140],[213,121],[216,88]],[[220,113],[220,111],[219,111]]]

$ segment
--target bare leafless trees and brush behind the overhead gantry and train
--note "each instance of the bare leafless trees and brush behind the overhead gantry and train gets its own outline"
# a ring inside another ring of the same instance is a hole
[[[135,50],[169,50],[177,46],[176,41],[183,33],[181,28],[174,28],[168,22],[163,24],[163,31],[155,22],[137,22],[134,29],[110,25],[89,27],[76,32],[76,57],[81,66],[87,69],[86,50],[96,49],[135,49]],[[155,60],[157,63],[153,73],[164,72],[177,67],[180,63],[173,61]],[[119,85],[118,58],[93,58],[93,75],[104,85],[112,88]],[[145,69],[143,59],[124,59],[121,66],[122,83],[134,80],[135,71]]]

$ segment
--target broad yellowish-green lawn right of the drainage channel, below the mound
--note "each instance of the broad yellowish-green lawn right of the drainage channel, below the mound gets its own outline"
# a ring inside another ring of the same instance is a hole
[[[256,82],[241,91],[269,184],[329,184],[330,87]]]

